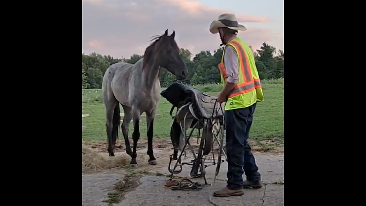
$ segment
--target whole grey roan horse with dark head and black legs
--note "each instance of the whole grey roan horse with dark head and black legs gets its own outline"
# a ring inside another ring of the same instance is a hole
[[[188,71],[174,40],[175,32],[168,36],[168,29],[146,48],[143,58],[134,65],[118,62],[108,67],[102,83],[103,100],[107,117],[108,153],[114,156],[113,148],[120,125],[119,103],[124,110],[122,133],[126,144],[126,152],[131,156],[131,164],[137,164],[136,147],[140,138],[139,118],[146,113],[147,121],[147,154],[149,164],[155,165],[156,159],[153,152],[153,124],[157,113],[157,104],[160,99],[160,77],[163,69],[167,69],[178,80],[186,79]],[[152,40],[152,41],[153,41]],[[133,119],[134,140],[131,151],[128,140],[128,130]]]

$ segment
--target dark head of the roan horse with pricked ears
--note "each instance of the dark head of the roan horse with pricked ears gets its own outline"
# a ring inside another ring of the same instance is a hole
[[[143,67],[153,58],[156,65],[170,71],[177,80],[185,80],[188,76],[188,70],[179,54],[179,47],[174,40],[174,36],[175,31],[168,36],[167,29],[163,35],[155,37],[153,39],[155,41],[146,48]]]

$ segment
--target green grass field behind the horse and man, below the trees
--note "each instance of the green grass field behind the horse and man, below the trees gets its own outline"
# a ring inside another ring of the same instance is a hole
[[[275,141],[283,146],[283,79],[262,81],[264,102],[257,104],[254,114],[254,122],[251,128],[250,139]],[[216,96],[221,89],[219,84],[197,85],[194,88],[209,95]],[[170,138],[172,118],[169,115],[171,104],[161,98],[158,105],[158,114],[154,120],[154,137]],[[123,113],[122,107],[120,107]],[[83,114],[90,114],[83,118],[83,141],[106,141],[105,108],[101,89],[83,89]],[[130,139],[133,126],[130,124]],[[146,138],[146,119],[141,117],[140,138]],[[122,131],[120,138],[123,139]],[[130,140],[131,141],[131,140]]]

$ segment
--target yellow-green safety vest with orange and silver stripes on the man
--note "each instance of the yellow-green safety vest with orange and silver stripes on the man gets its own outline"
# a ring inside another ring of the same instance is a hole
[[[238,55],[239,82],[229,93],[225,104],[225,110],[245,108],[256,102],[263,101],[263,91],[259,79],[257,67],[255,66],[254,55],[249,46],[240,38],[234,38],[225,45],[221,62],[218,65],[221,73],[221,84],[225,87],[227,72],[224,66],[225,48],[232,46]]]

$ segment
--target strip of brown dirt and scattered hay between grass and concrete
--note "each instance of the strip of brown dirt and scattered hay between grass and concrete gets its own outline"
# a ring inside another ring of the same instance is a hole
[[[199,139],[191,138],[191,145],[195,152],[198,152]],[[282,141],[282,142],[281,142]],[[130,140],[132,143],[133,140]],[[249,139],[249,144],[254,152],[270,152],[283,154],[283,138],[268,138],[268,139]],[[107,142],[83,142],[83,173],[101,172],[112,168],[130,168],[130,155],[126,154],[124,140],[117,140],[117,148],[115,148],[115,156],[109,157],[107,152]],[[170,139],[153,139],[154,156],[157,160],[157,165],[149,165],[149,156],[147,152],[147,140],[140,139],[137,149],[137,168],[140,170],[150,170],[151,172],[158,171],[161,167],[166,167],[169,163],[169,155],[173,154],[173,147]],[[214,142],[213,150],[215,158],[219,150],[217,142]],[[190,153],[190,150],[186,150]]]

